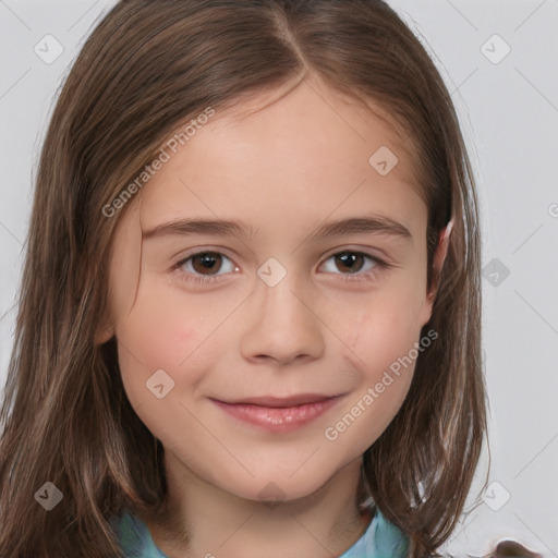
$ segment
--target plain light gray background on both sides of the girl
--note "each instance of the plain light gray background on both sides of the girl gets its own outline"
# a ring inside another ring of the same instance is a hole
[[[0,386],[48,118],[86,36],[113,3],[0,0]],[[490,485],[445,551],[480,556],[513,537],[558,557],[558,0],[389,3],[452,94],[482,206]],[[46,35],[63,47],[50,63],[34,50],[56,53]],[[486,471],[485,454],[476,490]]]

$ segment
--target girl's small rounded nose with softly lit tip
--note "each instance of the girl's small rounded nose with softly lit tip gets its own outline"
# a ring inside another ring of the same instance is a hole
[[[271,359],[281,365],[318,359],[325,349],[325,326],[314,299],[294,274],[288,272],[275,287],[256,278],[243,316],[243,356],[248,361]]]

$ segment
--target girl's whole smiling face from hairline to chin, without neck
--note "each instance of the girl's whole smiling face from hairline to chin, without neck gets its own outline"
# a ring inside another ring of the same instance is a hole
[[[178,476],[248,499],[310,495],[361,459],[433,301],[409,141],[319,82],[276,97],[167,148],[111,260],[107,336],[134,410]]]

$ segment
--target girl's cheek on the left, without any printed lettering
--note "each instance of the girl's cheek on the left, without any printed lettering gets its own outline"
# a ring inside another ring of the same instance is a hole
[[[192,427],[183,404],[190,408],[219,354],[211,336],[218,316],[204,312],[193,298],[182,304],[168,289],[148,287],[145,281],[132,311],[117,326],[124,390],[136,414],[166,448],[195,446],[201,433]]]

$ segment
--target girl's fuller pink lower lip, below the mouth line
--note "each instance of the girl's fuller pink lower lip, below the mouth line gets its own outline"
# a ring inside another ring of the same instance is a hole
[[[259,426],[266,430],[286,433],[295,430],[314,421],[331,409],[339,399],[341,399],[341,396],[317,401],[316,403],[286,408],[243,403],[230,404],[215,399],[213,401],[223,411],[241,421]]]

